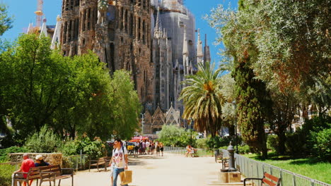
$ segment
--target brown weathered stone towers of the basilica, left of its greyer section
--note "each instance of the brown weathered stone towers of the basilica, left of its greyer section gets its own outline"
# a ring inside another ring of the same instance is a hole
[[[65,56],[95,51],[110,72],[132,73],[141,103],[153,106],[149,0],[63,0],[62,51]]]

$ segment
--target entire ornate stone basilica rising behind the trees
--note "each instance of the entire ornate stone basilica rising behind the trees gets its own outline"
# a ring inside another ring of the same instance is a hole
[[[57,25],[44,21],[40,32],[65,56],[91,50],[110,73],[129,70],[144,106],[144,134],[182,126],[180,82],[197,73],[198,63],[211,61],[207,39],[203,49],[182,0],[63,0]]]

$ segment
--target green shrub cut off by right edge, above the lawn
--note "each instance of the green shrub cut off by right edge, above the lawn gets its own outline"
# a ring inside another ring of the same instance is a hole
[[[331,128],[312,132],[313,154],[323,161],[331,161]]]

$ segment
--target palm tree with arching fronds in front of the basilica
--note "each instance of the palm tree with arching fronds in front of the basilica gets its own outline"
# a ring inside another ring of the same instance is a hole
[[[180,99],[185,106],[182,118],[194,120],[194,128],[199,132],[209,131],[212,137],[221,128],[221,69],[214,70],[214,63],[199,64],[195,75],[187,75],[182,81],[185,88]]]

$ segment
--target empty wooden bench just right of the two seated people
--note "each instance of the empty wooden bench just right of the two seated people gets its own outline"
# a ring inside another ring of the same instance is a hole
[[[37,167],[40,170],[40,186],[42,182],[54,182],[59,180],[59,185],[62,179],[71,178],[71,186],[74,186],[74,168],[61,168],[57,166],[41,166]],[[64,173],[69,171],[69,174]]]

